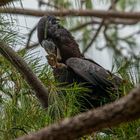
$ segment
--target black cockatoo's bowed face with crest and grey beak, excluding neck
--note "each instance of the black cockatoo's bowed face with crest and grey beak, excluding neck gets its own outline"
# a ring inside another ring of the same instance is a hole
[[[58,29],[60,19],[54,16],[44,16],[37,26],[38,40],[48,55],[56,55],[57,60],[61,60],[58,47],[53,41],[53,33]]]

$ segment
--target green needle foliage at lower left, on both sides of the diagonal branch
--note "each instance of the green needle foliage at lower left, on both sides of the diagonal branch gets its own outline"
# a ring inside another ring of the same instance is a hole
[[[24,58],[27,58],[27,56]],[[31,61],[26,59],[26,62],[48,87],[50,105],[47,111],[44,110],[34,96],[32,89],[26,84],[17,70],[2,58],[2,77],[0,79],[1,139],[14,139],[62,118],[74,116],[79,112],[80,105],[77,102],[77,98],[78,93],[83,92],[83,88],[76,84],[73,88],[72,86],[66,86],[65,88],[61,87],[62,85],[58,86],[47,65],[42,65],[42,68],[38,67],[40,66],[38,58],[34,60],[32,58]]]

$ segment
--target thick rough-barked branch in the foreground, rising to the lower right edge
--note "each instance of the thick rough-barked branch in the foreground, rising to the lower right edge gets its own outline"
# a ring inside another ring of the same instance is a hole
[[[17,140],[73,140],[85,134],[140,117],[140,87],[101,108],[65,119]]]

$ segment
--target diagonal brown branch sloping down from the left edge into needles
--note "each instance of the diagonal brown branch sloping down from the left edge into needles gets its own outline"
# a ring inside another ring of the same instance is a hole
[[[40,100],[41,104],[47,108],[48,107],[48,90],[42,84],[42,82],[36,77],[32,70],[28,67],[26,62],[18,56],[12,48],[6,46],[0,42],[0,53],[9,60],[17,70],[23,75],[27,83],[35,91],[37,98]]]

